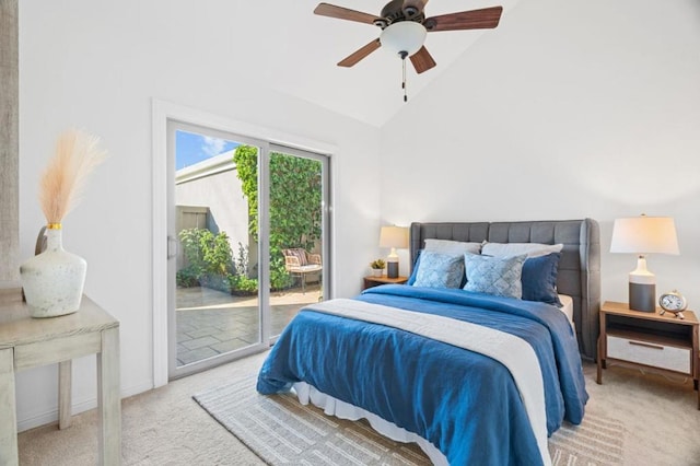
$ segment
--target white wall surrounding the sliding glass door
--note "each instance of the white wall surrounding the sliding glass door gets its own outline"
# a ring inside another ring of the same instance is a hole
[[[265,27],[242,22],[238,3],[20,4],[21,257],[33,254],[45,223],[36,194],[56,138],[71,127],[101,136],[110,158],[65,219],[63,242],[88,260],[86,293],[121,323],[122,395],[153,385],[152,98],[335,145],[332,207],[342,212],[332,238],[338,295],[359,291],[373,256],[378,130],[266,88],[254,56],[259,51],[250,46],[261,43],[266,50]],[[95,406],[94,359],[73,368],[74,408]],[[19,374],[21,429],[56,419],[56,372]]]

